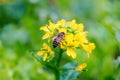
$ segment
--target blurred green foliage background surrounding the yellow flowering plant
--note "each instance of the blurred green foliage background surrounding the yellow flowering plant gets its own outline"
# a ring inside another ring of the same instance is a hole
[[[120,80],[120,0],[0,0],[0,80],[54,80],[29,50],[41,47],[40,26],[61,19],[83,23],[96,44],[79,80]]]

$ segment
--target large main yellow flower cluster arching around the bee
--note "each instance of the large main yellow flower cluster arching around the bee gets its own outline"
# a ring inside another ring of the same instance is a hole
[[[47,39],[50,41],[53,41],[53,38],[60,32],[65,33],[65,38],[60,42],[59,46],[61,49],[64,49],[68,56],[71,56],[72,58],[76,58],[76,48],[82,48],[87,52],[87,55],[89,57],[89,54],[94,50],[95,45],[94,43],[90,43],[86,36],[87,31],[84,31],[84,26],[82,23],[77,24],[75,20],[72,21],[65,21],[60,20],[56,24],[49,22],[49,25],[45,25],[40,27],[40,30],[43,30],[45,34],[43,35],[42,39]],[[39,53],[43,54],[43,53]],[[46,60],[46,57],[44,57],[43,60]]]

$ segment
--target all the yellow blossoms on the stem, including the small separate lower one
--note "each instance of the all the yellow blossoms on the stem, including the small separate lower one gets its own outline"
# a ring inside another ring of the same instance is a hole
[[[50,45],[53,45],[55,40],[54,37],[60,33],[64,33],[64,38],[59,38],[59,46],[62,51],[66,51],[68,56],[73,59],[76,58],[76,48],[81,48],[87,52],[89,57],[92,51],[95,49],[95,44],[87,40],[87,31],[84,31],[84,25],[82,23],[77,24],[76,20],[65,21],[60,20],[57,23],[49,21],[48,25],[40,27],[40,30],[44,31],[45,34],[42,39],[48,40],[48,43],[52,41]],[[63,35],[63,34],[62,34]],[[43,61],[46,61],[49,57],[54,57],[54,46],[50,47],[47,43],[43,43],[40,51],[37,52],[38,56],[43,56]],[[82,71],[87,66],[83,63],[75,68],[77,71]]]

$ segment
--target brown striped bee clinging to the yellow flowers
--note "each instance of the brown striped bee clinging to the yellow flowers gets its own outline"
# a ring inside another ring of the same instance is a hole
[[[57,36],[53,40],[53,48],[56,48],[60,44],[60,42],[64,39],[64,37],[65,37],[64,32],[58,33]]]

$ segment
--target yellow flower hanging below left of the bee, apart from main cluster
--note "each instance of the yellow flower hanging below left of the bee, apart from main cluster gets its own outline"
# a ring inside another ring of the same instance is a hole
[[[37,52],[37,55],[43,56],[43,61],[46,61],[48,56],[52,57],[54,55],[54,52],[51,50],[51,48],[46,43],[44,43],[41,50]]]

